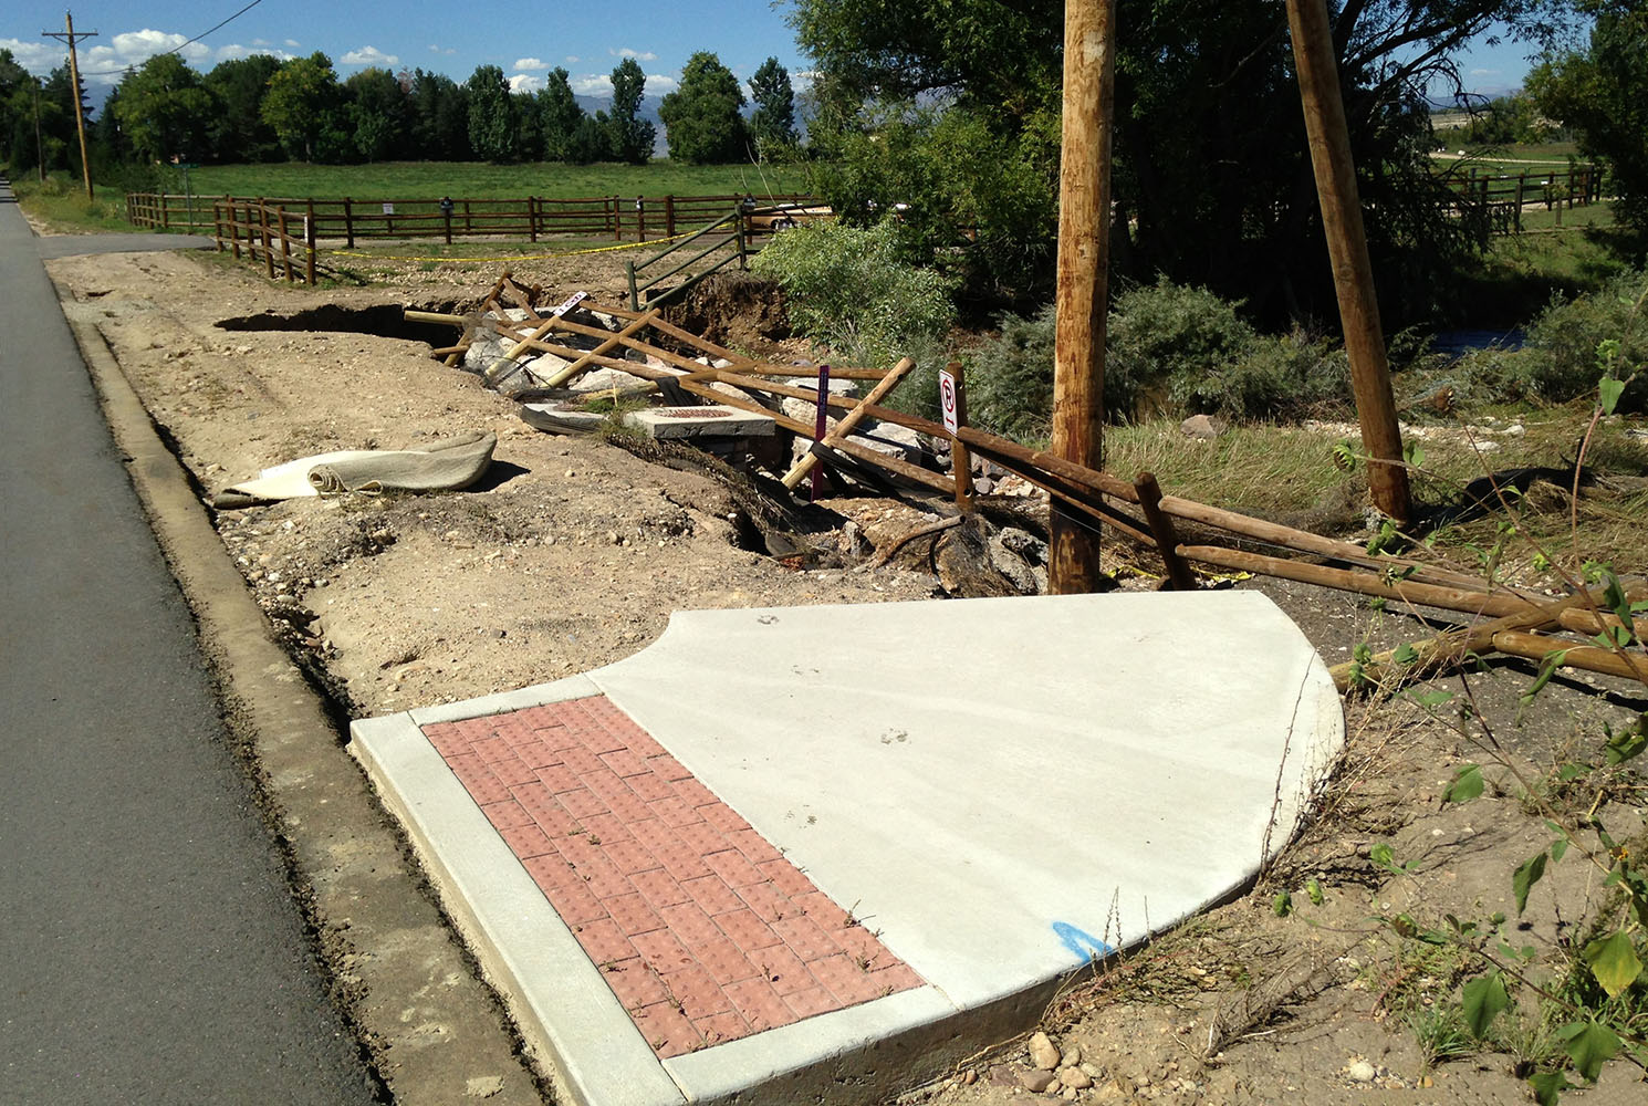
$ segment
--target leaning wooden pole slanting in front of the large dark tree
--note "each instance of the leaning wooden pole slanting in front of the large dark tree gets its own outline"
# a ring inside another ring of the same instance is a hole
[[[1310,165],[1322,201],[1322,227],[1333,262],[1350,384],[1361,420],[1361,448],[1368,455],[1368,491],[1373,506],[1406,523],[1409,518],[1407,470],[1402,466],[1402,432],[1396,422],[1391,368],[1379,330],[1379,300],[1373,290],[1373,264],[1361,226],[1356,166],[1350,157],[1350,130],[1340,94],[1333,33],[1327,0],[1287,0],[1287,25],[1299,68],[1299,96],[1310,137]]]

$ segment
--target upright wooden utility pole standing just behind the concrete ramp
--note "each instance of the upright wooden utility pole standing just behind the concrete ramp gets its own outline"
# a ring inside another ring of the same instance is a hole
[[[1066,0],[1053,453],[1088,468],[1101,468],[1104,453],[1114,74],[1116,0]],[[1055,501],[1048,592],[1093,592],[1098,582],[1098,523]]]

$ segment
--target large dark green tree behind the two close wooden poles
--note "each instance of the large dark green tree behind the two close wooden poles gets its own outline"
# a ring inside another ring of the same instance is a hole
[[[1119,3],[1114,272],[1208,285],[1271,321],[1332,318],[1282,5]],[[1567,0],[1333,5],[1358,183],[1379,213],[1368,221],[1374,272],[1393,316],[1434,310],[1434,297],[1457,285],[1449,275],[1485,244],[1485,221],[1440,209],[1426,86],[1457,82],[1452,54],[1495,21],[1536,35],[1566,8]],[[821,71],[809,140],[822,165],[839,166],[821,175],[824,193],[859,221],[908,203],[929,246],[979,239],[976,290],[1045,297],[1063,5],[799,0],[793,23]],[[962,135],[990,155],[959,145]],[[877,152],[893,138],[903,143],[897,157]],[[954,173],[966,180],[936,180],[923,165],[956,155],[966,162]],[[913,191],[925,181],[934,181],[929,191]]]

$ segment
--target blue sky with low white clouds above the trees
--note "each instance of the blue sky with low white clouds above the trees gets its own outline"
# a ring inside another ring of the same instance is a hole
[[[81,46],[81,71],[89,86],[112,86],[127,66],[181,46],[194,68],[206,71],[227,58],[250,53],[310,54],[333,59],[339,76],[366,66],[433,69],[456,81],[476,66],[499,66],[517,89],[542,87],[555,66],[572,74],[583,96],[606,96],[608,74],[633,56],[648,74],[648,94],[676,87],[681,68],[694,51],[709,49],[748,81],[768,56],[786,66],[798,89],[806,82],[806,58],[796,49],[784,21],[786,0],[620,0],[618,3],[521,5],[447,0],[397,3],[321,3],[320,0],[259,0],[236,16],[249,0],[180,3],[150,0],[133,5],[92,2],[77,5],[76,31],[97,31]],[[221,20],[229,23],[198,43],[183,43]],[[31,73],[44,74],[63,63],[64,48],[43,38],[43,30],[63,30],[63,3],[8,0],[0,15],[0,49]],[[1467,87],[1500,92],[1521,84],[1528,73],[1528,48],[1516,43],[1480,45],[1460,59]],[[92,101],[102,97],[94,91]]]

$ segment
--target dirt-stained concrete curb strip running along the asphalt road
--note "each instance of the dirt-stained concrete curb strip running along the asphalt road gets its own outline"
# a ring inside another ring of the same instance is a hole
[[[272,640],[176,458],[96,325],[53,280],[115,443],[194,612],[226,717],[246,742],[335,994],[394,1101],[544,1101],[481,984],[320,701]]]

